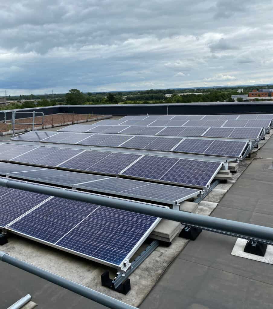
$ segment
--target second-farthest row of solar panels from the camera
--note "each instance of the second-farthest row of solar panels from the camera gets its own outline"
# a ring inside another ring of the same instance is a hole
[[[271,120],[101,120],[95,125],[269,128],[271,122]]]

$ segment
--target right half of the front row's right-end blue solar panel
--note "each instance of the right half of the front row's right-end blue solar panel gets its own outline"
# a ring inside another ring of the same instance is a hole
[[[157,218],[100,206],[57,245],[121,265]]]

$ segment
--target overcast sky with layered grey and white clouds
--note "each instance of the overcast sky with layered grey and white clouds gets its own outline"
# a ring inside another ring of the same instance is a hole
[[[9,0],[0,8],[0,95],[273,83],[271,0]]]

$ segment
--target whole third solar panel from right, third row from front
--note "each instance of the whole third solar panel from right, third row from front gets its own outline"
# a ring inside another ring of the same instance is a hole
[[[82,151],[76,149],[38,147],[32,150],[31,153],[20,155],[11,159],[11,161],[54,167]]]

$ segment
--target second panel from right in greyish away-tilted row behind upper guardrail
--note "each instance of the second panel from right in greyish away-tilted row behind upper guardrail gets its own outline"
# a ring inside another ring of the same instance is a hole
[[[107,179],[107,177],[105,176],[76,173],[76,172],[71,172],[71,171],[62,171],[62,170],[53,170],[53,169],[33,171],[33,169],[34,167],[32,167],[32,171],[11,173],[9,176],[20,178],[20,179],[26,179],[26,180],[35,180],[35,181],[50,183],[50,184],[58,184],[58,185],[66,186],[66,187],[72,187],[73,184],[79,184],[79,183],[87,182],[87,181]],[[28,170],[31,170],[31,168],[28,167]]]

